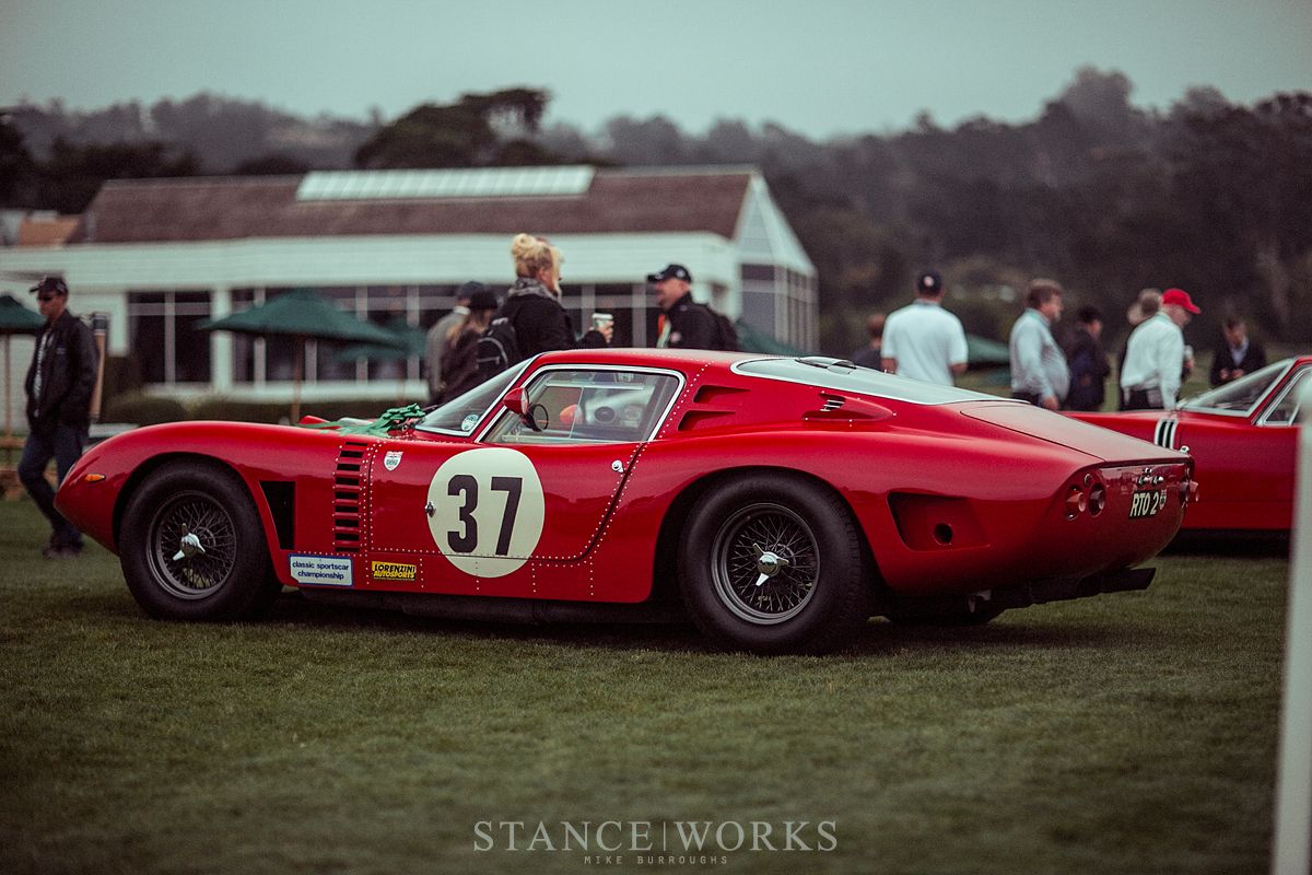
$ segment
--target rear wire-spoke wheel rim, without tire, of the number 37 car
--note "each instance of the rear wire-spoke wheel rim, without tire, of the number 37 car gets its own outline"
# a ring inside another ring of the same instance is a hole
[[[774,502],[731,514],[715,535],[710,563],[720,602],[760,626],[796,617],[820,579],[820,547],[811,526]]]

